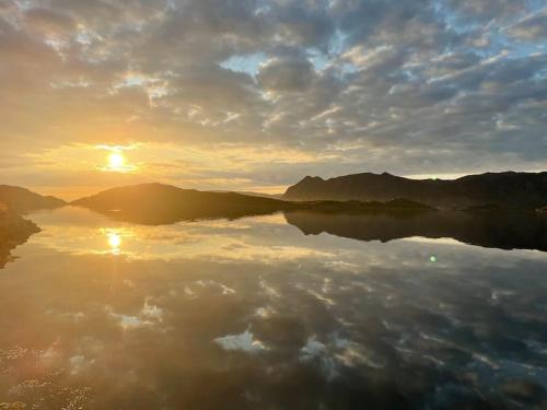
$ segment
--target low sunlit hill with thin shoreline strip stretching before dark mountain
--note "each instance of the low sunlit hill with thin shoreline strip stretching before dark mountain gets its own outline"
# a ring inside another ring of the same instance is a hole
[[[305,201],[293,202],[236,192],[208,192],[181,189],[171,185],[141,184],[112,188],[71,202],[140,224],[168,224],[177,221],[269,214],[288,210],[321,212],[379,212],[382,210],[427,211],[431,207],[408,200],[381,202]]]

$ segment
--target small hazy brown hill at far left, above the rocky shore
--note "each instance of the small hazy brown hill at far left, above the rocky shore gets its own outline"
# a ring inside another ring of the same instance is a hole
[[[12,212],[24,213],[38,209],[62,207],[66,202],[55,197],[45,197],[26,188],[0,185],[0,202]]]

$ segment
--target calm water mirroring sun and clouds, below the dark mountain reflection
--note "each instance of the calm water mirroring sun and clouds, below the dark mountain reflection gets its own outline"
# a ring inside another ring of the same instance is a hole
[[[547,408],[547,253],[373,216],[28,218],[0,409]]]

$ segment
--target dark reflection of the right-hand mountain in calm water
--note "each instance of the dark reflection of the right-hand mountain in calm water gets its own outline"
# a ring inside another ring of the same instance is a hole
[[[287,222],[306,235],[322,232],[359,241],[387,242],[411,236],[451,237],[501,249],[547,251],[547,218],[534,212],[381,212],[289,211]]]

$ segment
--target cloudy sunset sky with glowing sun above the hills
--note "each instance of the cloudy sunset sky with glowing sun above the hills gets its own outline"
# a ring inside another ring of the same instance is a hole
[[[546,130],[546,0],[0,0],[0,183],[43,194],[544,171]]]

